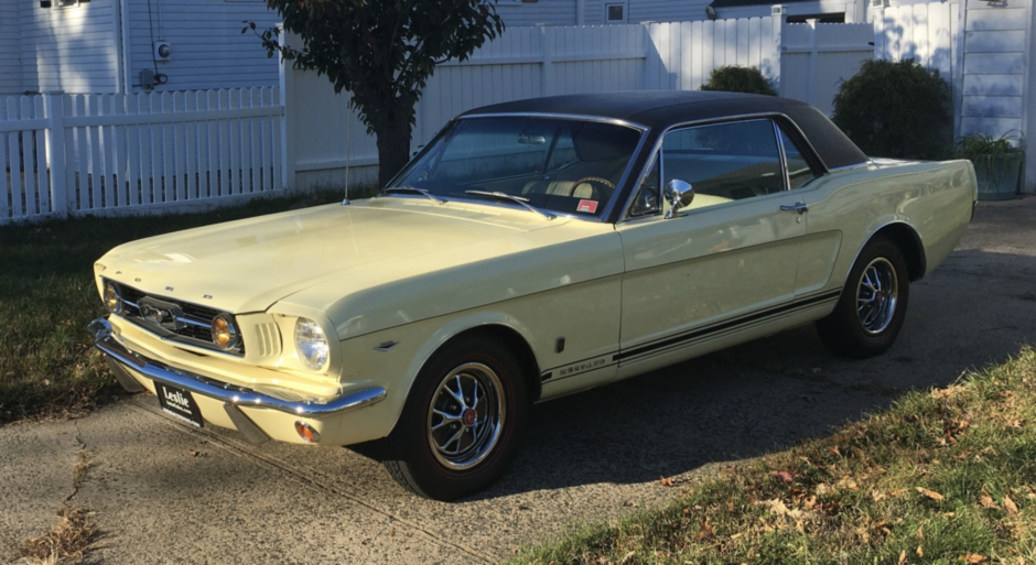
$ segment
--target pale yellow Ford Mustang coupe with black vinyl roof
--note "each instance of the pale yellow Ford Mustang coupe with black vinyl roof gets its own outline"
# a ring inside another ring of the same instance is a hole
[[[841,355],[885,351],[975,199],[970,163],[870,160],[794,100],[507,102],[367,202],[112,249],[90,330],[186,422],[378,441],[451,500],[500,477],[533,402],[810,322]]]

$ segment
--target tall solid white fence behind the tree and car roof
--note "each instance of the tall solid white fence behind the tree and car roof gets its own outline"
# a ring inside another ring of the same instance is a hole
[[[843,78],[873,56],[871,24],[784,24],[779,18],[629,25],[512,28],[463,63],[440,66],[418,104],[412,146],[458,113],[561,94],[697,90],[724,65],[759,68],[781,96],[830,112]],[[293,187],[376,178],[375,139],[326,78],[282,65],[285,178]],[[358,169],[357,169],[358,167]]]

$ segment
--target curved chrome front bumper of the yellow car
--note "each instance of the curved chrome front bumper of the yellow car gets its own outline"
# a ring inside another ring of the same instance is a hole
[[[202,394],[223,401],[235,406],[252,409],[268,409],[301,416],[323,416],[369,406],[385,400],[388,395],[385,389],[371,387],[369,389],[339,396],[326,403],[320,402],[290,402],[245,387],[237,387],[211,379],[201,374],[182,371],[155,359],[150,359],[127,347],[126,341],[114,333],[111,323],[105,318],[97,318],[87,326],[94,335],[95,347],[109,358],[132,368],[144,377],[186,389],[193,393]]]

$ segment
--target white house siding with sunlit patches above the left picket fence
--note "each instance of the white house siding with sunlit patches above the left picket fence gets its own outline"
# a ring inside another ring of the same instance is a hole
[[[65,8],[41,8],[39,0],[19,4],[23,90],[116,91],[116,0]]]

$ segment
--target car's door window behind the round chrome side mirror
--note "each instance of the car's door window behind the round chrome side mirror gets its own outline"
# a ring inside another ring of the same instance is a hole
[[[668,133],[662,141],[662,185],[675,178],[694,187],[690,208],[784,191],[774,123],[748,120]]]

